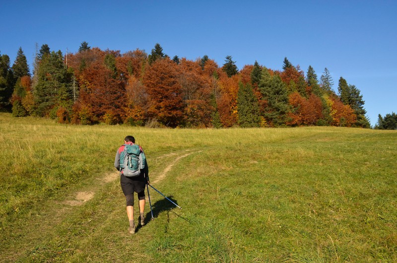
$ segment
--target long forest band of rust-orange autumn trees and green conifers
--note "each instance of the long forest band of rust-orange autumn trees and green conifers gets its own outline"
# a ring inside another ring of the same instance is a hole
[[[305,74],[287,58],[282,70],[235,63],[231,56],[222,66],[206,55],[171,59],[159,44],[150,54],[87,42],[62,54],[44,44],[31,74],[19,48],[12,66],[0,54],[0,107],[82,125],[370,128],[360,90],[340,77],[336,93],[327,68],[319,79],[312,66]]]

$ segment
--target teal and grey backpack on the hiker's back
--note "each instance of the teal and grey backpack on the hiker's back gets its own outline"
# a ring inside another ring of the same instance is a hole
[[[145,168],[146,157],[139,145],[123,144],[124,150],[120,153],[120,172],[126,177],[137,177],[140,170]]]

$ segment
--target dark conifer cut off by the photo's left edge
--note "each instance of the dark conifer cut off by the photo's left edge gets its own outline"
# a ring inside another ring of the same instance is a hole
[[[9,57],[0,55],[0,109],[9,110],[9,99],[14,91],[14,76],[9,66]]]

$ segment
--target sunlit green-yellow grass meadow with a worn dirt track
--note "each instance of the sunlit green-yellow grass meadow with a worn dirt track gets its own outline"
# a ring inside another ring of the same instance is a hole
[[[152,185],[183,207],[150,191],[155,220],[134,235],[113,168],[129,134]],[[396,131],[86,127],[1,113],[0,145],[0,262],[397,262]]]

